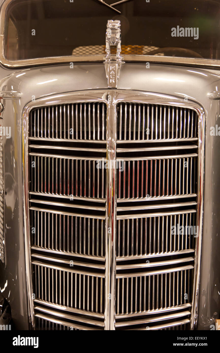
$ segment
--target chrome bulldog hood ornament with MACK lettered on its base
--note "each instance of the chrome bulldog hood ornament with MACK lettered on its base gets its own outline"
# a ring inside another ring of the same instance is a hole
[[[105,70],[109,88],[117,88],[121,64],[121,24],[119,20],[108,20],[106,31],[106,57]],[[111,46],[116,46],[116,55],[111,55]]]

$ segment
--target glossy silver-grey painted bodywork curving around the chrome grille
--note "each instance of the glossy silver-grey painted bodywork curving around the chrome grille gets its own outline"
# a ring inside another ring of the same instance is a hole
[[[0,74],[5,76],[6,70]],[[21,75],[22,74],[22,75]],[[17,77],[16,77],[17,76]],[[206,115],[205,184],[203,240],[201,257],[198,328],[209,329],[214,312],[220,310],[219,290],[219,150],[218,136],[210,136],[211,126],[220,126],[218,100],[209,92],[218,91],[220,75],[195,68],[166,65],[125,64],[121,68],[118,89],[155,92],[178,98],[188,97],[203,107]],[[68,89],[67,89],[68,88]],[[24,256],[22,114],[35,99],[69,91],[107,89],[103,64],[57,65],[22,70],[0,81],[1,91],[22,92],[20,99],[1,99],[5,126],[11,126],[11,139],[5,144],[5,237],[6,268],[0,265],[0,289],[9,301],[17,328],[27,329],[28,304]],[[89,93],[89,92],[88,92]],[[172,104],[172,102],[171,102]],[[214,166],[214,167],[213,167]],[[7,246],[10,244],[10,246]]]

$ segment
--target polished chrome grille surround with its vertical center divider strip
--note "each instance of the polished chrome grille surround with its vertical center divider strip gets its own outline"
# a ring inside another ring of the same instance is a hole
[[[19,63],[21,64],[21,63]],[[38,62],[39,64],[39,62]],[[109,98],[109,100],[108,100]],[[204,127],[205,127],[205,114],[204,109],[200,104],[188,100],[184,102],[183,98],[178,98],[174,96],[167,96],[163,94],[155,94],[149,92],[141,91],[131,91],[131,90],[86,90],[80,92],[70,92],[64,94],[58,94],[50,97],[39,98],[33,102],[28,103],[23,110],[23,204],[24,204],[24,238],[25,238],[25,260],[26,260],[26,279],[27,279],[27,293],[28,293],[28,304],[29,304],[29,317],[32,327],[34,328],[34,300],[32,299],[32,273],[31,273],[31,242],[30,242],[30,219],[29,219],[29,168],[28,168],[28,133],[29,133],[29,114],[32,108],[42,107],[42,106],[53,106],[54,104],[64,104],[64,103],[85,103],[85,102],[104,102],[108,106],[107,112],[107,159],[116,161],[116,143],[123,143],[123,141],[117,141],[117,125],[116,125],[116,105],[118,102],[135,102],[135,103],[155,103],[163,104],[167,106],[176,106],[193,109],[198,114],[198,154],[190,154],[190,157],[198,156],[198,197],[197,197],[197,226],[199,227],[198,238],[196,238],[196,248],[195,248],[195,265],[185,266],[182,268],[175,268],[169,270],[162,270],[156,272],[148,273],[135,273],[135,274],[117,274],[116,275],[116,251],[115,251],[115,231],[116,231],[116,171],[113,168],[106,170],[107,174],[107,201],[106,201],[106,311],[105,311],[105,329],[114,330],[115,329],[115,280],[117,278],[123,277],[136,277],[144,276],[155,273],[165,273],[178,271],[179,269],[193,269],[195,272],[194,276],[194,287],[193,287],[193,299],[192,299],[192,315],[191,315],[191,329],[196,325],[197,321],[197,303],[198,303],[198,287],[199,287],[199,276],[200,276],[200,261],[201,261],[201,241],[202,241],[202,214],[203,214],[203,179],[204,179]],[[30,138],[30,140],[44,140],[43,138]],[[49,139],[47,140],[55,140]],[[58,141],[63,139],[58,139]],[[66,139],[68,141],[68,139]],[[197,140],[197,138],[180,139],[181,141]],[[177,139],[175,140],[177,141]],[[81,141],[80,141],[81,142]],[[92,142],[90,140],[85,140],[85,142]],[[96,141],[100,143],[99,141]],[[127,142],[127,141],[125,141]],[[138,142],[138,140],[136,141]],[[141,142],[139,140],[139,142]],[[153,142],[153,141],[152,141]],[[160,140],[163,142],[163,140]],[[166,140],[167,142],[167,140]],[[95,143],[95,142],[94,142]],[[101,142],[103,144],[103,142]],[[41,154],[40,154],[41,155]],[[43,154],[43,156],[45,156]],[[50,155],[48,155],[50,156]],[[64,156],[58,156],[64,157]],[[166,156],[166,158],[178,158],[182,157]],[[186,157],[186,155],[183,155]],[[66,158],[66,156],[65,156]],[[68,158],[68,157],[67,157]],[[69,158],[72,158],[71,156]],[[145,157],[147,159],[158,159],[162,157]],[[89,158],[91,159],[91,158]],[[97,158],[95,158],[97,160]],[[121,160],[122,158],[119,158]],[[126,158],[123,159],[123,161]],[[129,158],[127,158],[129,160]],[[139,160],[139,158],[132,158],[132,160]],[[197,196],[184,195],[185,196]],[[177,196],[178,197],[178,196]],[[172,197],[167,197],[172,198]],[[157,198],[155,198],[157,199]],[[162,197],[161,199],[165,199]],[[120,200],[122,202],[124,200]],[[136,201],[136,199],[130,200]],[[46,210],[48,211],[48,210]],[[54,211],[53,211],[54,212]],[[195,210],[191,210],[195,212]],[[64,214],[64,213],[63,213]],[[168,213],[172,214],[172,213]],[[155,215],[155,214],[153,214]],[[132,215],[132,217],[137,218],[143,217],[144,215]],[[147,215],[149,216],[149,214]],[[121,218],[122,217],[122,218]],[[121,216],[120,219],[124,219],[127,216]],[[130,217],[130,216],[129,216]],[[112,233],[109,233],[109,229]],[[37,262],[34,262],[37,263]],[[46,264],[37,263],[41,266],[48,266]],[[54,267],[53,267],[54,268]],[[62,268],[62,270],[66,270]],[[79,271],[82,273],[82,271]],[[94,274],[91,274],[94,275]],[[100,276],[100,274],[95,274]],[[102,276],[102,275],[101,275]],[[109,294],[112,295],[110,300]],[[43,317],[43,315],[36,314],[36,317]],[[185,322],[189,322],[185,320]],[[172,324],[170,324],[172,325]],[[161,325],[159,325],[161,326]],[[159,327],[158,326],[158,327]],[[162,325],[163,326],[163,325]],[[86,328],[84,328],[86,329]]]

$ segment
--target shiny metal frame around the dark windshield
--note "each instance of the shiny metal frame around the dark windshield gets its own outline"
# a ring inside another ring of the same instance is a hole
[[[45,58],[8,60],[4,55],[5,48],[5,20],[8,5],[14,0],[4,0],[0,7],[0,63],[7,68],[23,68],[33,66],[45,66],[54,64],[68,64],[70,62],[103,62],[103,55],[80,55],[80,56],[50,56]],[[105,33],[103,33],[103,37]],[[220,68],[220,60],[184,58],[177,56],[160,55],[123,55],[125,62],[145,62],[152,64],[168,64],[181,66],[196,66],[208,68]]]

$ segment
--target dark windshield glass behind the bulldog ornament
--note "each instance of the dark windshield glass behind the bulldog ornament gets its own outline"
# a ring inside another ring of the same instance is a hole
[[[104,56],[107,21],[118,19],[122,55],[219,60],[219,18],[219,0],[14,0],[5,14],[4,56]]]

